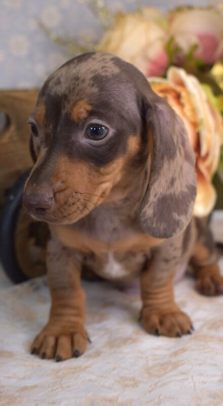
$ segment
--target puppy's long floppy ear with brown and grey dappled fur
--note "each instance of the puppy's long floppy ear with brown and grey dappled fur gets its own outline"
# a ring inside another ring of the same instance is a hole
[[[150,90],[144,100],[150,175],[140,207],[143,229],[170,238],[189,223],[196,197],[195,157],[182,119]],[[149,170],[149,168],[148,168]]]

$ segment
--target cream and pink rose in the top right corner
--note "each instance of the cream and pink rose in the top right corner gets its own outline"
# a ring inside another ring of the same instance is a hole
[[[182,55],[196,45],[194,56],[214,63],[223,56],[223,16],[213,8],[181,8],[168,15],[169,33]]]

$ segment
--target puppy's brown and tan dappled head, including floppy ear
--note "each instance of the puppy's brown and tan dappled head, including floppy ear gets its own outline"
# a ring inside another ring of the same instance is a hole
[[[146,232],[167,238],[186,227],[195,172],[185,128],[131,64],[104,53],[71,59],[44,83],[30,124],[35,164],[23,204],[33,218],[74,223],[135,167],[147,172]]]

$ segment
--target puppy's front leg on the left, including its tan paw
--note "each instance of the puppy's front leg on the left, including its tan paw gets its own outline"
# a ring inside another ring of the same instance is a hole
[[[62,361],[78,357],[86,348],[81,255],[52,240],[48,244],[47,267],[51,311],[47,325],[32,343],[31,353]]]

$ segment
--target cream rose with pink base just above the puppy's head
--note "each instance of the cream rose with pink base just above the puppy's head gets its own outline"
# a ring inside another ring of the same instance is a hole
[[[163,75],[168,55],[165,51],[167,33],[160,23],[161,17],[161,13],[151,8],[136,13],[118,13],[114,26],[105,32],[97,50],[132,63],[147,77]]]

